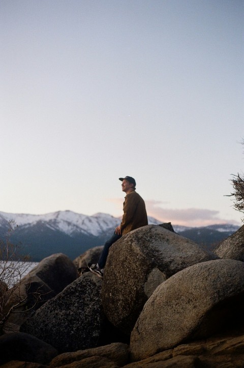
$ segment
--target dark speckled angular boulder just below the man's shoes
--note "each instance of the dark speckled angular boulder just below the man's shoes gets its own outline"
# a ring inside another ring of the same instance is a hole
[[[103,327],[102,280],[84,273],[24,322],[20,330],[60,353],[96,347]]]

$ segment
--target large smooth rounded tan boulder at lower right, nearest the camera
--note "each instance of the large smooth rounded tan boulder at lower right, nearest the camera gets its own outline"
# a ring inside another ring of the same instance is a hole
[[[244,263],[214,260],[188,267],[161,284],[131,334],[133,360],[243,325]]]

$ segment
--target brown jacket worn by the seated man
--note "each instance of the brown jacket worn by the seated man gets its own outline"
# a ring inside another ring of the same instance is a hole
[[[126,195],[123,210],[124,215],[120,224],[122,235],[148,225],[145,202],[135,191]]]

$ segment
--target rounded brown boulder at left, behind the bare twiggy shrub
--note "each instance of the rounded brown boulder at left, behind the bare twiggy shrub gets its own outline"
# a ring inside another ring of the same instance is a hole
[[[21,281],[5,294],[6,311],[14,305],[4,326],[4,332],[18,332],[20,325],[78,277],[78,272],[69,257],[57,253],[44,258]],[[20,302],[21,301],[21,302]]]

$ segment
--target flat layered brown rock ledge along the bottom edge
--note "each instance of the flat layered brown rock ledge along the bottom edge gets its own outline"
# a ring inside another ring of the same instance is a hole
[[[242,328],[242,330],[237,329],[237,331],[216,335],[206,340],[178,345],[174,349],[165,350],[149,358],[129,364],[126,364],[124,360],[128,356],[128,346],[111,344],[110,346],[95,349],[60,354],[48,365],[12,360],[1,365],[1,367],[43,368],[47,366],[60,366],[63,368],[115,368],[123,366],[126,368],[242,368],[244,361],[243,332]]]

